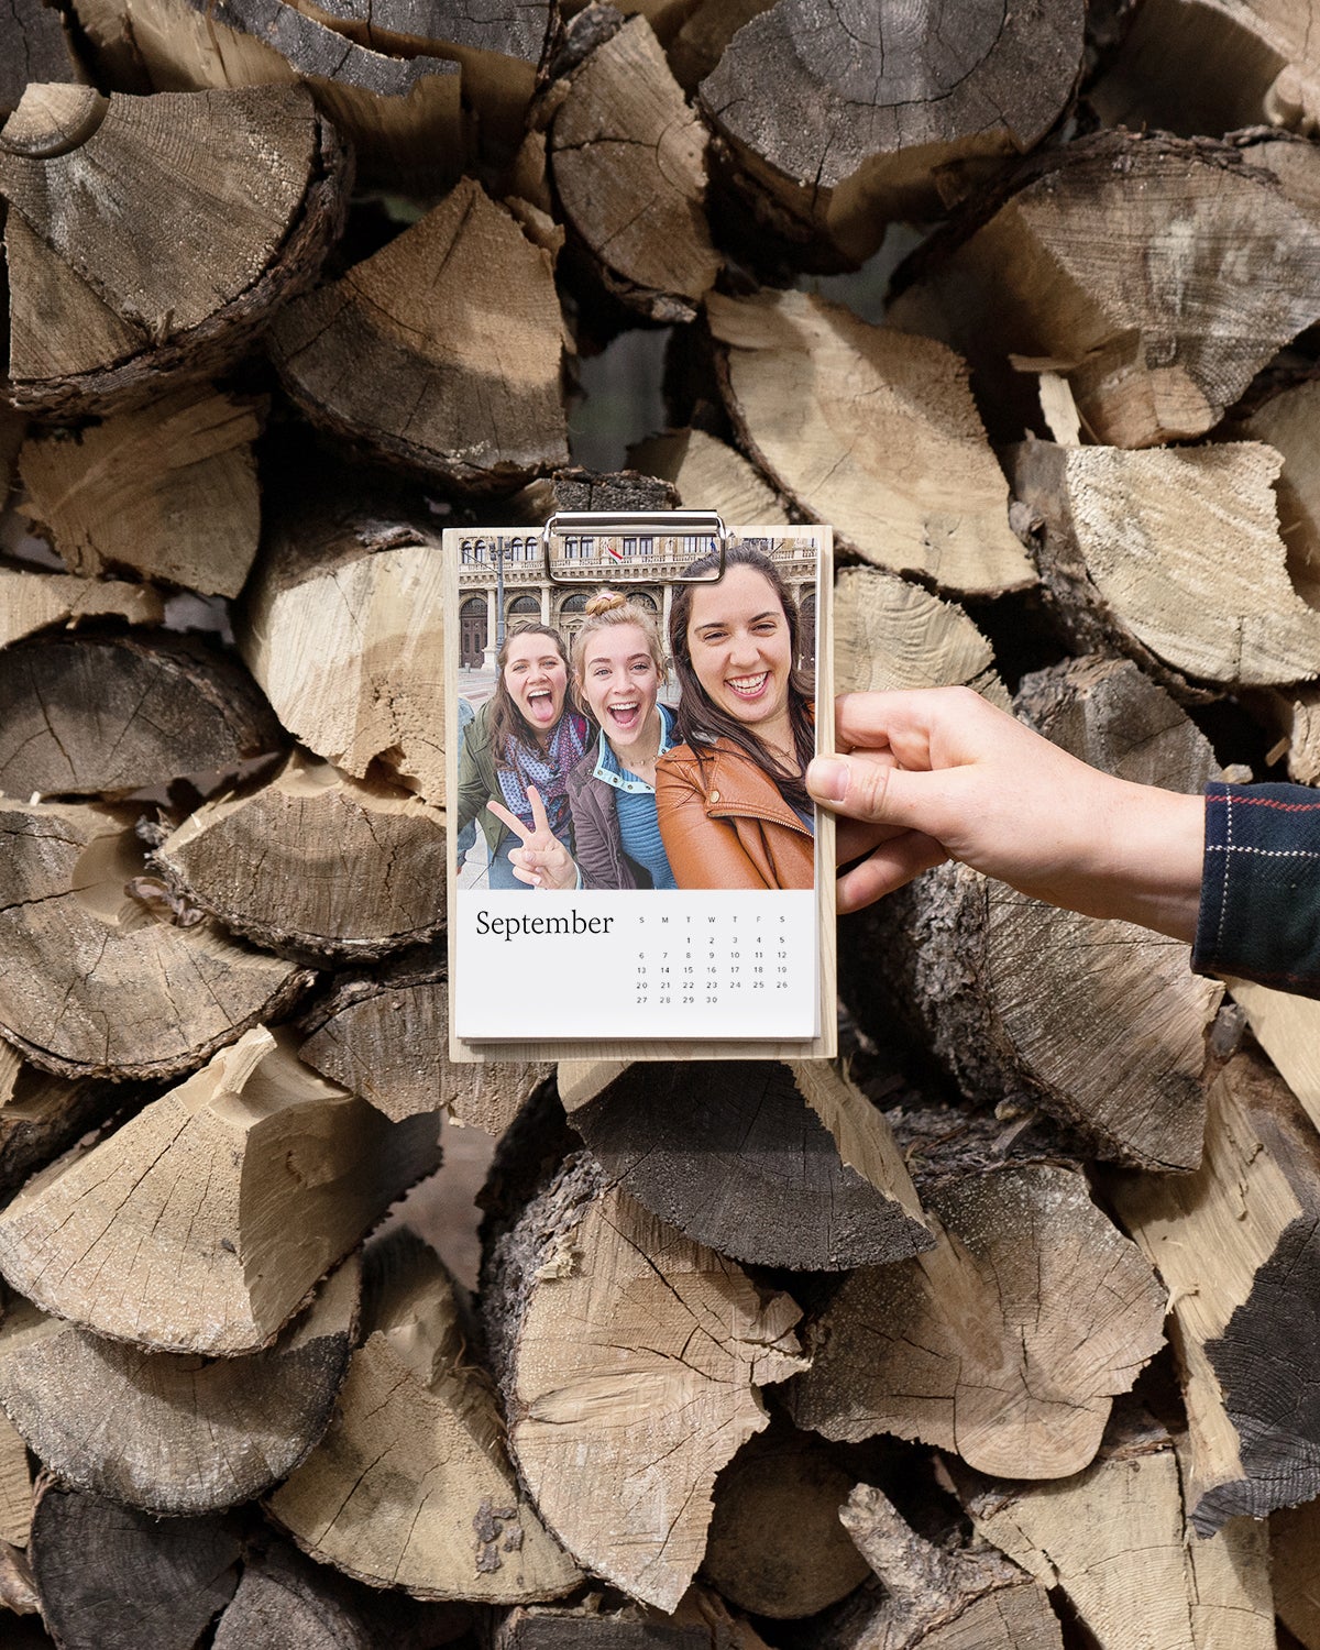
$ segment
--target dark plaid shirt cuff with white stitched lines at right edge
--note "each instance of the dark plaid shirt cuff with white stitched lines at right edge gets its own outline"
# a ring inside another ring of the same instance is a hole
[[[1320,997],[1320,792],[1206,785],[1191,967]]]

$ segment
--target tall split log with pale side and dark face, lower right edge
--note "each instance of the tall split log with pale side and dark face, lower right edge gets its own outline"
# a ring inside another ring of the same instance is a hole
[[[1211,1089],[1200,1172],[1115,1175],[1109,1196],[1173,1295],[1193,1528],[1320,1493],[1320,1142],[1285,1084],[1239,1054]]]

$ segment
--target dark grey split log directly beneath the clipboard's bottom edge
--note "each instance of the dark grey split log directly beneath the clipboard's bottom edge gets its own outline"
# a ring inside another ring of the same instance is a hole
[[[610,1186],[736,1261],[842,1272],[931,1246],[889,1125],[827,1061],[635,1063],[569,1122]]]

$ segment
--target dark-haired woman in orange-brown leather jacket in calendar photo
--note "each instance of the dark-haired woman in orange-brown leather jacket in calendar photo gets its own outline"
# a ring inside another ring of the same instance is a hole
[[[703,556],[685,576],[718,566]],[[719,579],[675,592],[681,742],[657,764],[655,802],[680,888],[815,886],[815,716],[797,648],[797,604],[764,551],[734,544]]]

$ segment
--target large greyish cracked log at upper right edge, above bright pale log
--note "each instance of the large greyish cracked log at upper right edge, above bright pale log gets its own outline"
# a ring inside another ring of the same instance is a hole
[[[962,350],[1005,412],[1010,363],[1044,363],[1092,441],[1153,447],[1218,424],[1320,318],[1313,236],[1236,148],[1102,132],[924,248],[886,318]]]

